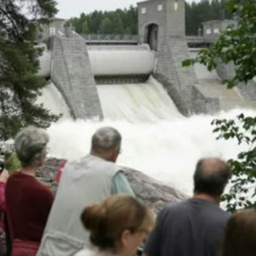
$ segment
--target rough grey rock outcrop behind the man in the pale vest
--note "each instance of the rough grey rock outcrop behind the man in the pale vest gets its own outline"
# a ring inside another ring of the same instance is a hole
[[[38,171],[38,178],[46,182],[53,190],[56,188],[55,175],[59,169],[61,159],[51,158],[46,161],[44,167]],[[154,208],[158,213],[167,203],[181,201],[187,198],[175,188],[171,188],[158,180],[136,171],[123,167],[128,181],[138,199],[141,199],[146,205]]]

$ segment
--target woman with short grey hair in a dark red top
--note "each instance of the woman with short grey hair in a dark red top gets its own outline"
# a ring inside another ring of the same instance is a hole
[[[35,256],[53,203],[53,193],[35,177],[44,165],[48,134],[29,126],[16,135],[15,150],[21,169],[6,185],[6,210],[12,256]]]

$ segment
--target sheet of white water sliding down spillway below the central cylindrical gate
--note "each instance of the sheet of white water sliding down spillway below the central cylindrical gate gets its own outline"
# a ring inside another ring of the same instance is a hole
[[[150,77],[147,83],[98,85],[104,117],[112,121],[149,123],[181,117],[165,89]]]

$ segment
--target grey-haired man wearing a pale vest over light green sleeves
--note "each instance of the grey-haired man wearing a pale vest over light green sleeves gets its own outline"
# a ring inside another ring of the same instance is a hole
[[[80,221],[85,206],[117,193],[134,195],[122,168],[115,165],[121,141],[114,128],[100,128],[91,139],[90,154],[66,164],[38,256],[71,256],[89,247],[89,234]]]

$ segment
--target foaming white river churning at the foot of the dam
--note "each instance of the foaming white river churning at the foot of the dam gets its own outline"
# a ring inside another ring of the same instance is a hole
[[[143,171],[185,193],[192,193],[193,172],[197,160],[217,156],[235,158],[246,145],[236,141],[216,141],[210,125],[214,118],[233,118],[239,113],[255,115],[253,110],[236,109],[220,115],[179,117],[155,124],[131,124],[126,121],[97,122],[63,120],[48,129],[50,154],[68,160],[89,152],[92,134],[102,126],[113,126],[122,133],[122,154],[117,163]]]

